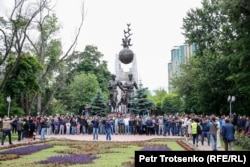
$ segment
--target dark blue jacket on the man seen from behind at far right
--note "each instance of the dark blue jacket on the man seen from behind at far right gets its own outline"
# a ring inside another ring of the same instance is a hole
[[[226,142],[235,141],[235,128],[231,123],[225,123],[222,126],[222,139]]]

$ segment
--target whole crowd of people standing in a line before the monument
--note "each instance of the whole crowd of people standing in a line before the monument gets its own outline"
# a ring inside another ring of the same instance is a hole
[[[5,137],[11,133],[18,134],[18,141],[23,139],[35,140],[39,135],[40,140],[45,140],[46,135],[93,135],[93,140],[98,140],[98,135],[106,135],[106,140],[111,140],[111,135],[163,135],[183,136],[193,140],[198,147],[205,142],[216,151],[221,147],[220,139],[225,142],[225,150],[233,150],[235,133],[243,133],[250,137],[249,117],[238,116],[229,119],[227,116],[216,117],[195,114],[165,114],[159,116],[134,116],[116,113],[116,115],[100,116],[35,116],[14,117],[2,119],[2,145]]]

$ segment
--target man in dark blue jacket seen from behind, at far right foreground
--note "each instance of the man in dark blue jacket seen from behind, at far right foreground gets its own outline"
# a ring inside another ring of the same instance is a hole
[[[225,144],[225,151],[228,151],[228,145],[229,145],[229,150],[233,151],[234,150],[234,141],[235,141],[235,128],[234,125],[229,121],[227,118],[225,120],[225,124],[222,126],[222,139]]]

